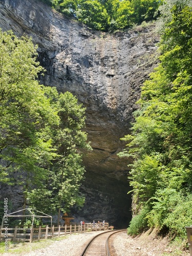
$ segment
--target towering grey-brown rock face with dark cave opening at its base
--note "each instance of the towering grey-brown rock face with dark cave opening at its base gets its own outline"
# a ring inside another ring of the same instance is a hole
[[[86,205],[74,215],[127,226],[131,160],[116,154],[123,148],[120,138],[130,132],[141,84],[157,63],[154,27],[106,34],[36,0],[0,0],[0,27],[31,36],[40,65],[47,70],[40,82],[72,92],[87,108],[86,131],[93,151],[84,156]]]

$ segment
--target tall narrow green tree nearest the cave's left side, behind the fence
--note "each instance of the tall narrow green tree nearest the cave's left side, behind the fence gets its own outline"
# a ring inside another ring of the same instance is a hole
[[[58,109],[60,124],[55,141],[60,157],[55,163],[54,174],[57,180],[59,224],[60,210],[67,210],[79,202],[78,188],[83,178],[84,167],[78,150],[89,149],[90,146],[87,143],[87,134],[82,131],[85,126],[85,109],[78,104],[77,98],[69,92],[60,94]],[[63,203],[65,205],[62,207]]]

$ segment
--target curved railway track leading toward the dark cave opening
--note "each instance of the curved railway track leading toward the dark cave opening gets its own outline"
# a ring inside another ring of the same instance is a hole
[[[126,229],[109,230],[97,234],[97,236],[89,241],[80,256],[117,256],[111,238],[113,234],[125,230]]]

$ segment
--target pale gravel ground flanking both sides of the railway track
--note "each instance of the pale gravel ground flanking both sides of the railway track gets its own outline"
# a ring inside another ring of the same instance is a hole
[[[3,253],[2,255],[14,256],[79,256],[96,234],[103,231],[92,231],[88,233],[68,235],[66,239],[54,241],[41,249],[30,249],[29,252],[22,253]],[[155,231],[147,231],[141,236],[132,238],[127,236],[126,231],[118,233],[114,238],[114,248],[118,256],[160,256],[160,255],[176,255],[174,248],[167,247],[166,238],[157,239]],[[33,244],[33,243],[32,243]],[[31,244],[31,245],[32,245]],[[30,244],[29,244],[30,245]],[[189,255],[188,252],[181,252],[177,255]]]

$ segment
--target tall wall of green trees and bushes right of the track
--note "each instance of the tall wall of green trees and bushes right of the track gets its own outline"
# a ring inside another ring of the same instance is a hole
[[[132,156],[133,209],[128,228],[156,227],[186,239],[192,219],[192,4],[167,0],[159,20],[160,63],[144,82],[132,134],[120,155]]]

